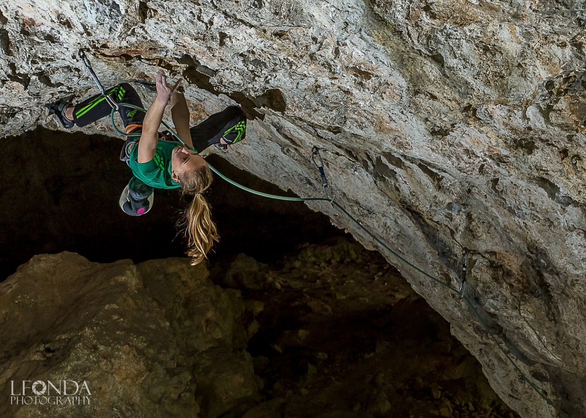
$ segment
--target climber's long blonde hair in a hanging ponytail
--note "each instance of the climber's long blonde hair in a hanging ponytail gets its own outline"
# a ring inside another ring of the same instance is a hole
[[[185,236],[188,238],[187,254],[195,266],[206,258],[206,253],[210,251],[214,241],[220,241],[209,205],[202,195],[212,184],[212,170],[206,164],[190,172],[178,174],[178,177],[183,194],[193,196],[193,201],[185,209],[180,224],[185,227]]]

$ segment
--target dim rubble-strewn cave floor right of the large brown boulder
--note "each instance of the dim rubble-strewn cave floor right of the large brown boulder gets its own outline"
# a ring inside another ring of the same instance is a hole
[[[264,306],[248,351],[265,402],[246,418],[517,416],[447,321],[352,238],[302,245],[273,263],[239,255],[222,265],[215,282]]]

